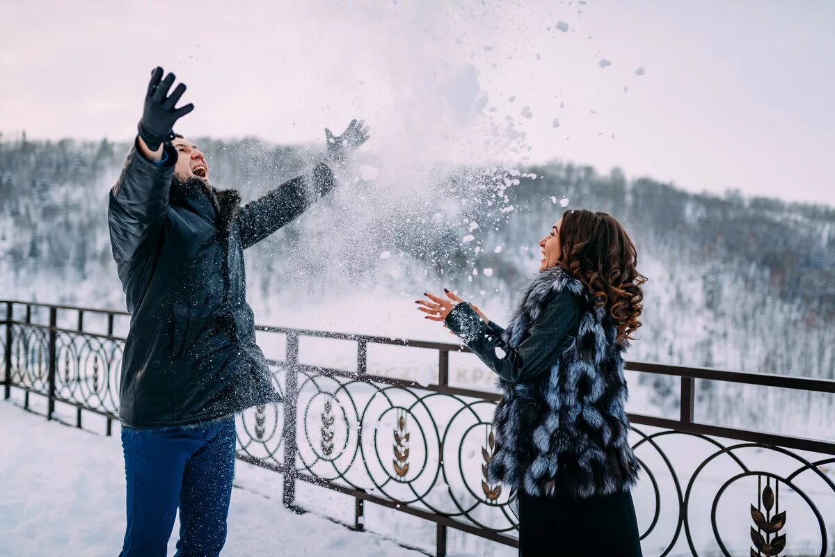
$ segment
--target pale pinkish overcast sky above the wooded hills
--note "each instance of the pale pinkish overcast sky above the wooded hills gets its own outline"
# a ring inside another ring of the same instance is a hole
[[[0,3],[4,138],[129,140],[159,64],[190,136],[321,142],[358,115],[379,158],[835,204],[833,2]]]

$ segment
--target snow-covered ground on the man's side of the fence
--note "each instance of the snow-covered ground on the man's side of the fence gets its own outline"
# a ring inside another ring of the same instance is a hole
[[[48,422],[0,401],[0,555],[114,557],[124,534],[119,439]],[[117,433],[118,435],[118,428]],[[296,515],[254,467],[237,463],[225,557],[362,554],[418,557],[376,534]],[[175,532],[179,524],[175,524]],[[169,554],[174,554],[176,534]],[[461,555],[461,554],[459,554]]]

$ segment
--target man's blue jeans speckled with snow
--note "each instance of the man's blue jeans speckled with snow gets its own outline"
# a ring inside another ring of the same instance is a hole
[[[235,470],[235,416],[205,424],[122,429],[128,527],[119,557],[216,557],[226,541]]]

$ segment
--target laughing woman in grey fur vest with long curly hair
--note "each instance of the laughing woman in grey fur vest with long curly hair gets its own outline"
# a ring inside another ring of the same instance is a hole
[[[566,211],[508,329],[444,289],[418,309],[498,376],[492,482],[519,496],[519,554],[641,554],[623,353],[640,327],[635,245],[607,213]]]

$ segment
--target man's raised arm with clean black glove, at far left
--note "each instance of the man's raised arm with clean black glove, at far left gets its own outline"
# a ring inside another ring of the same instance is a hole
[[[142,257],[159,238],[177,162],[177,150],[169,142],[170,133],[177,119],[195,108],[193,104],[175,108],[185,93],[185,84],[180,83],[169,95],[175,75],[169,73],[164,79],[162,76],[162,68],[151,73],[139,136],[110,190],[108,221],[116,263]],[[125,277],[121,278],[124,281]]]

